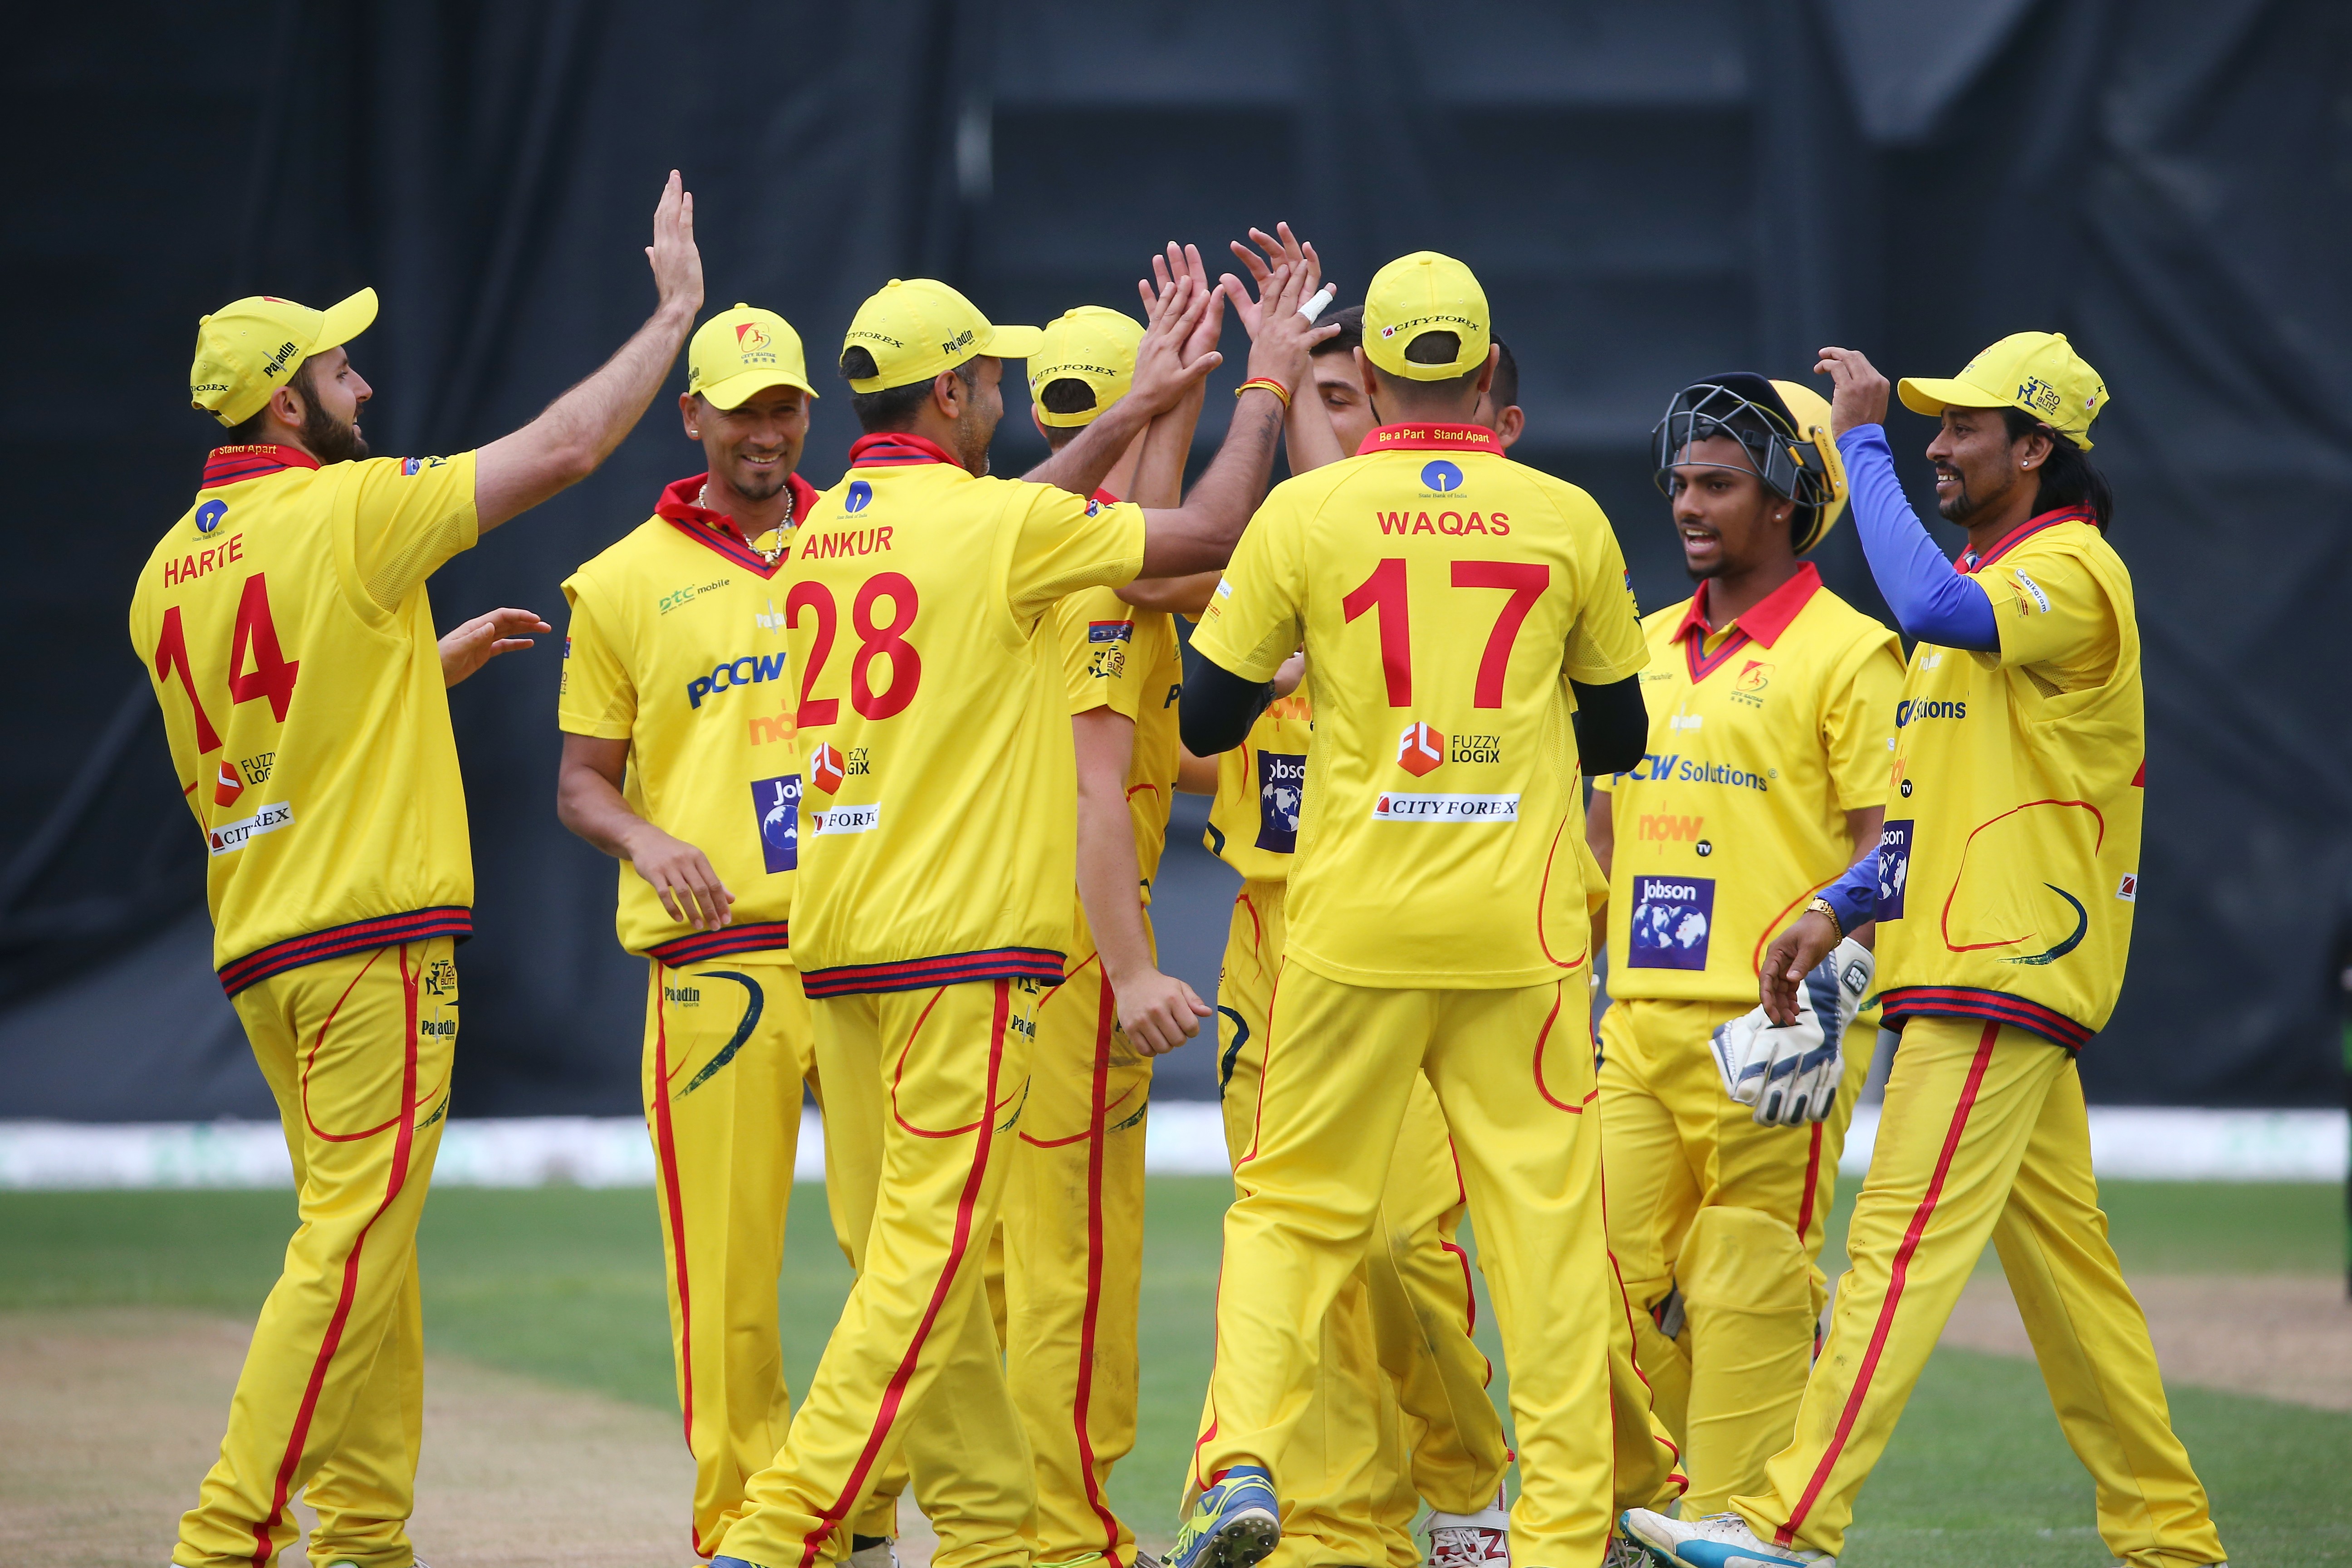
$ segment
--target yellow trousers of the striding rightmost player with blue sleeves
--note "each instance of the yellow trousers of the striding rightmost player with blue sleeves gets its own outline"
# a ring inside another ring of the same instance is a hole
[[[1797,1434],[1733,1507],[1764,1540],[1837,1552],[1985,1239],[1992,1239],[2098,1533],[2133,1568],[2218,1563],[2147,1319],[2107,1246],[2074,1058],[1978,1018],[1912,1018],[1853,1204],[1830,1340]]]

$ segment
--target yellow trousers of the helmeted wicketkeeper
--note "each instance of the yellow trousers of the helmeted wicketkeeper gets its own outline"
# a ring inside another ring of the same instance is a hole
[[[1684,1446],[1684,1519],[1764,1486],[1797,1422],[1828,1300],[1816,1267],[1846,1124],[1870,1051],[1846,1051],[1835,1110],[1811,1126],[1757,1126],[1724,1093],[1708,1037],[1748,1013],[1729,1001],[1616,1001],[1602,1016],[1602,1171],[1609,1251],[1632,1295],[1635,1342],[1658,1418]],[[1851,1041],[1867,1041],[1867,1025]],[[1679,1291],[1679,1338],[1658,1312]]]

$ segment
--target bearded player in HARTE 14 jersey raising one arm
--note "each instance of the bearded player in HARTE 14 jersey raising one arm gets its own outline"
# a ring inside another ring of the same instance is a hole
[[[212,853],[214,964],[278,1098],[301,1229],[261,1307],[183,1568],[414,1561],[423,1420],[416,1218],[449,1112],[473,860],[445,682],[541,625],[433,635],[426,578],[583,480],[661,388],[701,303],[677,174],[647,252],[661,303],[522,430],[374,458],[343,348],[372,289],[310,310],[240,299],[198,327],[191,395],[230,433],[139,574],[129,632]]]

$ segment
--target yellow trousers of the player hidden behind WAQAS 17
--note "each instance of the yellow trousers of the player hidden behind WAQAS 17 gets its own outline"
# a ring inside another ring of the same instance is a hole
[[[1237,1166],[1256,1128],[1282,900],[1282,882],[1242,886],[1218,973],[1218,1098]],[[1491,1368],[1470,1340],[1470,1260],[1454,1241],[1463,1208],[1444,1114],[1416,1074],[1374,1246],[1317,1328],[1315,1389],[1277,1467],[1275,1568],[1418,1563],[1411,1526],[1423,1500],[1475,1514],[1501,1490],[1510,1446],[1486,1399]]]

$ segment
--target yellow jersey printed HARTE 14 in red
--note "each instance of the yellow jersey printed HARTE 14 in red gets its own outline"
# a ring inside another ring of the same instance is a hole
[[[473,933],[466,785],[426,578],[473,545],[473,454],[219,447],[132,595],[235,997]]]

